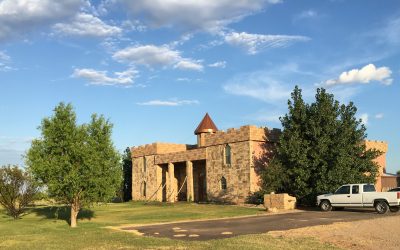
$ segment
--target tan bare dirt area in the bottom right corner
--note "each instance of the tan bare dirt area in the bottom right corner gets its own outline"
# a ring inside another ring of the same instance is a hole
[[[271,231],[276,237],[313,237],[345,249],[399,249],[400,216],[330,225],[312,226],[287,231]]]

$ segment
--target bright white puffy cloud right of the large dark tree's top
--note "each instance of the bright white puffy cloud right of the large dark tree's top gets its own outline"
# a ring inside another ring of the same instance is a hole
[[[392,71],[388,67],[375,67],[373,64],[368,64],[361,69],[352,69],[345,71],[337,79],[327,80],[324,84],[327,86],[334,86],[340,84],[354,84],[354,83],[370,83],[377,81],[384,85],[390,85],[393,82],[391,78]]]

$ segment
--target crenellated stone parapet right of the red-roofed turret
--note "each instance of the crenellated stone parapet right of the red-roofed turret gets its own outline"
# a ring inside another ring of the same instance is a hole
[[[240,141],[269,141],[276,142],[281,133],[280,129],[269,129],[253,125],[241,126],[239,129],[230,128],[226,132],[204,134],[204,146],[234,143]]]

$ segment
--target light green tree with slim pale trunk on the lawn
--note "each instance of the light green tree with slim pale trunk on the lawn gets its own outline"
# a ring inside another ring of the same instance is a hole
[[[32,141],[26,163],[49,196],[71,207],[71,227],[83,206],[107,202],[121,183],[120,156],[112,140],[112,124],[93,114],[77,125],[71,104],[60,103],[42,120],[41,137]]]

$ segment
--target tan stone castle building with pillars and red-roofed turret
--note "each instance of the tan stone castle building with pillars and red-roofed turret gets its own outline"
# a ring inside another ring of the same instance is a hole
[[[206,114],[194,133],[196,145],[156,142],[131,148],[133,200],[244,203],[261,187],[265,165],[255,164],[257,159],[273,154],[281,131],[251,125],[220,131]],[[386,174],[387,144],[365,143],[383,152],[375,159],[377,190],[397,186],[397,176]]]

